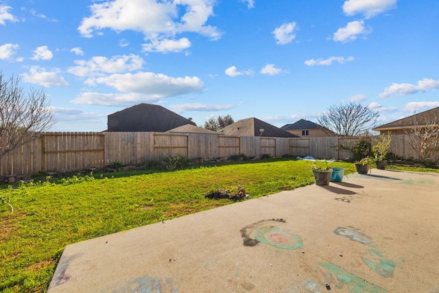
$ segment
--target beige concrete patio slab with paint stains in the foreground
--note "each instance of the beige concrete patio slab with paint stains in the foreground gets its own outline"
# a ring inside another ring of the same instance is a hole
[[[372,169],[71,244],[48,292],[439,292],[439,174]]]

